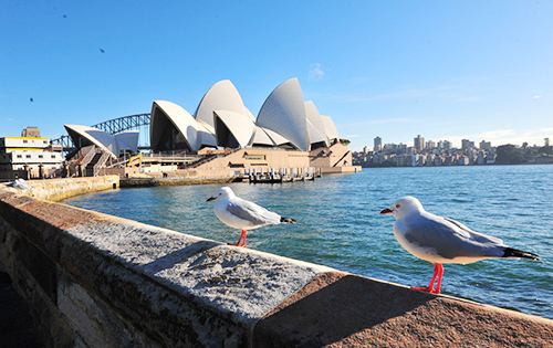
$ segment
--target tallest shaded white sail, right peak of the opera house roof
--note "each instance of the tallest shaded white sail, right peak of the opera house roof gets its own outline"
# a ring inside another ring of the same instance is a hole
[[[310,149],[303,94],[298,78],[279,85],[263,103],[258,126],[273,130],[301,150]]]

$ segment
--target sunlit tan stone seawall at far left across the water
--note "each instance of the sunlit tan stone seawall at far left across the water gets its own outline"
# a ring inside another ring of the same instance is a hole
[[[27,192],[28,194],[49,201],[61,201],[73,196],[117,189],[119,187],[119,177],[102,176],[30,180],[28,182],[31,186],[30,192]]]

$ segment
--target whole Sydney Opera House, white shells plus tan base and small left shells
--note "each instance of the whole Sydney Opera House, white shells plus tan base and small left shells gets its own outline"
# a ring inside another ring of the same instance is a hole
[[[95,145],[112,157],[136,152],[138,134],[109,135],[100,129],[65,125],[76,148]],[[211,154],[218,158],[195,170],[221,176],[237,170],[322,172],[354,171],[347,140],[341,139],[331,117],[305,101],[298,78],[276,86],[255,117],[232,82],[219,81],[190,114],[168,101],[154,101],[149,123],[152,155]],[[222,151],[222,152],[221,152]],[[163,168],[167,170],[166,168]]]

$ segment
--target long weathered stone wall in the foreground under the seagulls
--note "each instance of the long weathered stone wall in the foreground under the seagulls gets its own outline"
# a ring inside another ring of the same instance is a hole
[[[547,347],[553,321],[0,189],[49,347]]]

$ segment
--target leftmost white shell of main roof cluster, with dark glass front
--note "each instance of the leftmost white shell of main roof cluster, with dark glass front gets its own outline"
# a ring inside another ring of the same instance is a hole
[[[198,131],[205,130],[181,106],[167,102],[154,101],[149,126],[149,141],[154,151],[200,148]]]

